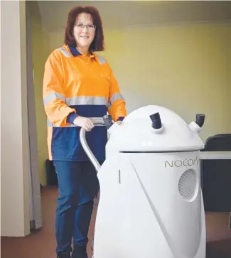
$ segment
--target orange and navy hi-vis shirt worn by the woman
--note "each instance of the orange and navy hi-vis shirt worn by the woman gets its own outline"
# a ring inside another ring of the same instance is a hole
[[[80,143],[77,116],[103,117],[114,121],[127,115],[124,98],[107,60],[96,53],[81,55],[63,45],[53,50],[45,63],[43,104],[48,117],[50,160],[88,161]],[[86,132],[87,144],[98,161],[104,161],[106,127],[95,126]]]

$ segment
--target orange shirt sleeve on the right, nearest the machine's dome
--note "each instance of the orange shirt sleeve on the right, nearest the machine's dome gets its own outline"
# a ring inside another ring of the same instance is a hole
[[[120,92],[119,85],[115,79],[112,70],[110,69],[110,88],[109,88],[109,102],[107,110],[116,122],[123,120],[127,116],[126,102],[122,93]]]

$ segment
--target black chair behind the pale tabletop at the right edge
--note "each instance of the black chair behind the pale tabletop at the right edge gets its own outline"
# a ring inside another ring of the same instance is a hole
[[[231,134],[210,136],[203,151],[231,151]],[[231,160],[201,160],[205,212],[231,212]]]

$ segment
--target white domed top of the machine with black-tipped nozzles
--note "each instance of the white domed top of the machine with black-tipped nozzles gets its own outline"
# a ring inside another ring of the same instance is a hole
[[[119,151],[195,151],[204,148],[198,136],[205,116],[195,114],[187,124],[166,107],[149,105],[134,110],[125,117],[122,126],[112,131],[110,144]]]

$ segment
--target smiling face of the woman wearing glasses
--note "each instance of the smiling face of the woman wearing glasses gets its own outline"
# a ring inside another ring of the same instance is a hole
[[[95,25],[90,14],[79,14],[75,20],[73,35],[77,47],[89,48],[95,38]]]

